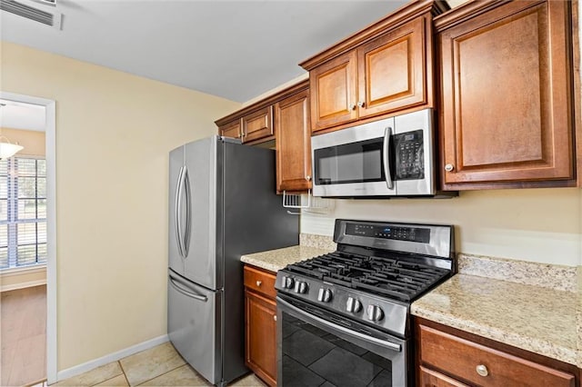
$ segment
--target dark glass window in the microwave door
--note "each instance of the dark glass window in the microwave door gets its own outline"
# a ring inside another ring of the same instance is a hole
[[[384,138],[331,146],[314,151],[316,184],[383,182]]]

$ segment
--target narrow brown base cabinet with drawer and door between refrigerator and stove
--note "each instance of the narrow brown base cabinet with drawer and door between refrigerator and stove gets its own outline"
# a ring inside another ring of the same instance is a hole
[[[246,366],[276,386],[276,275],[250,265],[244,272]]]

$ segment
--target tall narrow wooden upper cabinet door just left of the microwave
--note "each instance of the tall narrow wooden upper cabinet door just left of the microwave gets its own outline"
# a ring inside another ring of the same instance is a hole
[[[309,92],[292,95],[275,105],[276,190],[311,188],[311,126]]]

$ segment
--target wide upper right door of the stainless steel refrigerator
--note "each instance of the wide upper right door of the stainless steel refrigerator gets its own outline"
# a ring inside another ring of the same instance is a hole
[[[222,197],[216,184],[220,145],[216,136],[185,145],[185,191],[189,199],[184,211],[189,215],[184,275],[211,290],[222,287],[220,252],[216,252],[216,198]]]

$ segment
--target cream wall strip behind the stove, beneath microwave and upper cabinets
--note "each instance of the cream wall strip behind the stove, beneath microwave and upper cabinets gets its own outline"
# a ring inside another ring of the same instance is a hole
[[[336,200],[332,213],[301,216],[302,233],[332,235],[335,218],[446,223],[457,252],[539,263],[582,264],[577,188],[462,192],[453,199]]]

